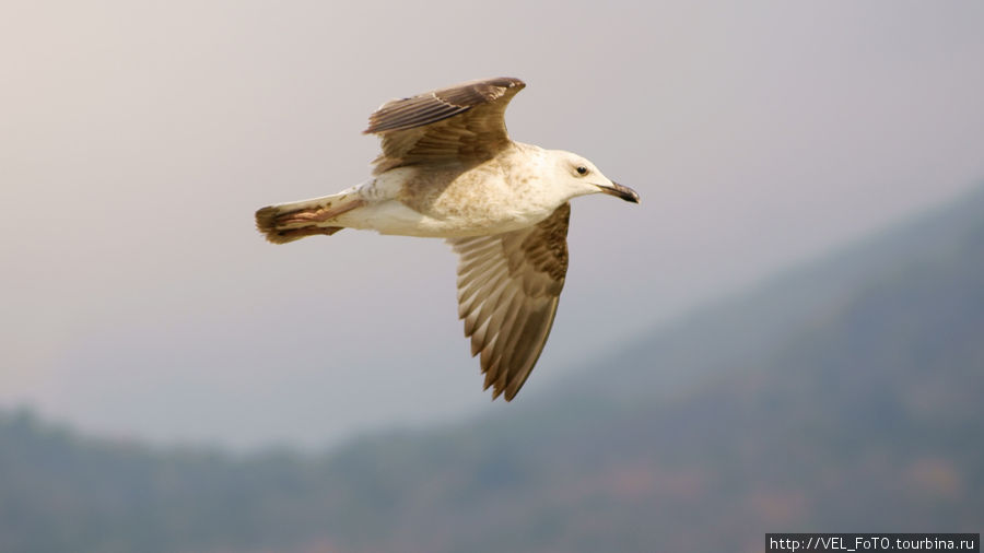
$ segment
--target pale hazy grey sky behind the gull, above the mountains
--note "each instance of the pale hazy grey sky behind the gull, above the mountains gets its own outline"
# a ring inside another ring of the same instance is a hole
[[[7,0],[0,405],[155,440],[317,446],[489,404],[441,240],[263,242],[364,180],[384,101],[513,75],[574,203],[517,401],[984,177],[984,3]],[[602,367],[604,369],[604,367]]]

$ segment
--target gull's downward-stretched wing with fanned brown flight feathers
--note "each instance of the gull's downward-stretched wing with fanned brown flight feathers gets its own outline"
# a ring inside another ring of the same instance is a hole
[[[570,216],[564,203],[529,228],[448,240],[460,256],[458,316],[493,399],[516,396],[547,343],[567,273]]]

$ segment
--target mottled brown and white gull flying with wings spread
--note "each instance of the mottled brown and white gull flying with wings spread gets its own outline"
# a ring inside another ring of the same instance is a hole
[[[268,205],[273,244],[342,228],[445,238],[458,254],[458,316],[483,389],[511,401],[540,357],[567,272],[570,200],[606,193],[639,203],[584,157],[514,142],[504,114],[526,84],[469,81],[383,104],[364,134],[383,152],[372,177],[332,196]]]

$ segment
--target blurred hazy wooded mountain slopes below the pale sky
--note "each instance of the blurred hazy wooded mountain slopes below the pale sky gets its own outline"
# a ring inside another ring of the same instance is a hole
[[[762,551],[984,520],[984,190],[559,389],[326,456],[0,415],[3,552]]]

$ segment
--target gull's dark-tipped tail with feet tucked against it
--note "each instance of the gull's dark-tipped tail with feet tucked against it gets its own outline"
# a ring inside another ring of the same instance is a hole
[[[342,228],[339,215],[365,205],[354,189],[324,198],[267,205],[256,212],[256,227],[273,244],[286,244],[305,236],[332,235]]]

